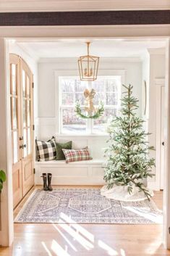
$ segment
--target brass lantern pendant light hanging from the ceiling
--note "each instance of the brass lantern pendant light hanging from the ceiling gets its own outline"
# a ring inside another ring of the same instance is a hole
[[[94,81],[98,76],[98,62],[99,57],[89,54],[90,42],[86,43],[88,46],[88,55],[80,56],[78,59],[80,80]]]

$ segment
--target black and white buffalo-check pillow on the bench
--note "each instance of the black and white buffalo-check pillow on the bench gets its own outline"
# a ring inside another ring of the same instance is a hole
[[[38,161],[50,161],[56,159],[56,141],[54,138],[49,141],[37,141],[36,148]]]

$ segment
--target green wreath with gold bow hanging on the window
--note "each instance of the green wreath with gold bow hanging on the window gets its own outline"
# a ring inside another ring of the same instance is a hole
[[[101,117],[101,115],[103,115],[103,112],[104,112],[104,106],[102,102],[99,104],[98,108],[94,106],[93,99],[95,96],[95,90],[93,88],[90,90],[85,89],[84,96],[85,96],[84,113],[88,113],[88,115],[82,113],[80,102],[77,102],[75,105],[76,114],[82,118],[97,119],[98,117]]]

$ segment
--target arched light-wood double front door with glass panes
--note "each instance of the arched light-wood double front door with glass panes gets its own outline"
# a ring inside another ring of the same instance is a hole
[[[33,74],[10,54],[12,174],[14,207],[33,186]]]

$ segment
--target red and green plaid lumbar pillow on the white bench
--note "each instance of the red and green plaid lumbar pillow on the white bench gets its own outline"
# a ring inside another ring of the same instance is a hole
[[[88,149],[62,149],[64,156],[66,157],[66,162],[77,162],[92,160],[90,152]]]

